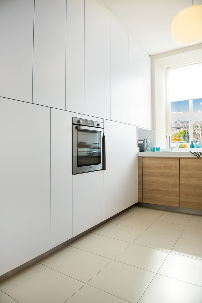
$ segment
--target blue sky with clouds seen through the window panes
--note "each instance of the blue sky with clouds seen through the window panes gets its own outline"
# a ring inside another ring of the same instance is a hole
[[[170,103],[171,121],[189,121],[189,100]],[[193,100],[193,121],[202,121],[202,98]]]

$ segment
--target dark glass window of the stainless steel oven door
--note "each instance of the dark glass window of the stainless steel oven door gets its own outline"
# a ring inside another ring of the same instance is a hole
[[[101,163],[101,132],[77,129],[77,166]]]

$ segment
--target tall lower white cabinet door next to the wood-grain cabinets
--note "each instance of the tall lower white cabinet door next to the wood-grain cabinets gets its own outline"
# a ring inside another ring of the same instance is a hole
[[[125,208],[137,203],[137,127],[125,124]]]

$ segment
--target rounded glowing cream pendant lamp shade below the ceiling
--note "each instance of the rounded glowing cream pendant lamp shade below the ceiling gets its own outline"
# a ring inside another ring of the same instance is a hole
[[[173,19],[171,35],[181,45],[191,45],[202,40],[202,5],[182,9]]]

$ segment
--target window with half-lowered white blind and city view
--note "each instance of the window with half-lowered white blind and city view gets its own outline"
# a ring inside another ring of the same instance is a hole
[[[201,83],[202,63],[168,69],[167,129],[170,129],[171,140],[178,135],[179,141],[197,143],[202,137]]]

